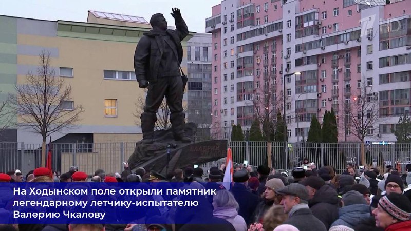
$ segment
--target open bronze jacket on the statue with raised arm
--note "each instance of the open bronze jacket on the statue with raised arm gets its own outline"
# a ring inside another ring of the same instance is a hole
[[[183,59],[183,48],[181,41],[189,34],[189,29],[184,20],[176,20],[176,30],[167,30],[166,33],[172,37],[176,47],[178,62]],[[151,30],[145,32],[137,44],[134,53],[134,70],[137,81],[146,80],[151,83],[157,82],[161,56],[165,48],[165,42],[160,33]]]

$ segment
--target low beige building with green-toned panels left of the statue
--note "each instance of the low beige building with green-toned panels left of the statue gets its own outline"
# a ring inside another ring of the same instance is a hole
[[[138,87],[133,57],[139,38],[150,29],[142,17],[96,11],[88,12],[87,22],[0,16],[0,100],[7,100],[27,73],[35,73],[44,50],[50,52],[55,76],[71,85],[71,101],[63,104],[65,109],[80,104],[84,108],[77,126],[51,134],[52,142],[139,141],[136,121],[141,110],[136,104],[138,98],[145,98],[145,91]],[[182,42],[184,56],[186,41],[193,35]],[[18,117],[14,120],[19,122]],[[42,141],[39,134],[20,127],[9,132],[15,133],[9,142]]]

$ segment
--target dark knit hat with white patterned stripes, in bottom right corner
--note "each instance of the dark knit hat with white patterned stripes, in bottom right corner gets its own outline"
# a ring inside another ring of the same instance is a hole
[[[399,221],[407,221],[411,218],[411,202],[402,194],[384,196],[378,201],[378,204]]]

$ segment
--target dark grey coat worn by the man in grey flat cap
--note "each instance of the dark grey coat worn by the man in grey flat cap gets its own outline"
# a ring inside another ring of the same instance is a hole
[[[298,229],[298,231],[327,231],[323,222],[314,217],[311,210],[302,208],[296,210],[283,224],[289,224]]]

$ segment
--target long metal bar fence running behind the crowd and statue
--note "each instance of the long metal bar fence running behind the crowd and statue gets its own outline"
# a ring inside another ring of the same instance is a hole
[[[52,166],[56,171],[66,172],[70,166],[77,165],[82,171],[91,174],[97,169],[106,172],[120,172],[122,162],[127,161],[136,143],[54,143]],[[255,170],[257,166],[268,163],[267,153],[271,149],[272,167],[286,169],[301,167],[304,158],[314,162],[317,168],[334,166],[338,172],[351,163],[359,166],[361,162],[360,143],[286,143],[283,142],[230,142],[233,162],[242,164],[245,160]],[[267,148],[270,147],[270,148]],[[411,163],[411,144],[371,144],[365,145],[367,167],[385,168],[392,165],[403,170]],[[212,166],[225,163],[225,158],[201,165],[204,171]],[[195,163],[193,163],[195,164]],[[41,144],[0,143],[0,171],[20,169],[28,172],[41,165]]]

